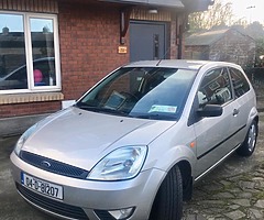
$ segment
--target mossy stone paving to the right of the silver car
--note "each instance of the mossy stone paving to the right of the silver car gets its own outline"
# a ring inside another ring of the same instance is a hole
[[[195,186],[184,206],[185,220],[264,219],[264,114],[256,151],[251,157],[233,154]]]

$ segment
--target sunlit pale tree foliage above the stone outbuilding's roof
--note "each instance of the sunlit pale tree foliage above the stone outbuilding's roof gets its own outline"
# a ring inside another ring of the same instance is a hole
[[[190,30],[210,30],[212,26],[230,25],[233,18],[231,6],[231,2],[222,4],[221,0],[216,0],[208,11],[191,13],[188,18]]]

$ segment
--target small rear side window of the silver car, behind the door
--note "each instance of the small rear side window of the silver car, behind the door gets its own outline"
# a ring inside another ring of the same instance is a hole
[[[229,72],[233,84],[235,98],[239,98],[250,90],[250,85],[244,75],[239,69],[230,67]]]

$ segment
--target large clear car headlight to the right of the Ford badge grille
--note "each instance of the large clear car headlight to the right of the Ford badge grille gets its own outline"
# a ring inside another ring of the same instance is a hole
[[[145,161],[146,146],[124,146],[103,157],[89,173],[88,179],[122,180],[135,177]]]

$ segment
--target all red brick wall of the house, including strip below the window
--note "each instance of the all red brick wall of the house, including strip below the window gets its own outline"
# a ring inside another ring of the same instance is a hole
[[[118,53],[120,46],[120,8],[118,4],[81,3],[81,0],[76,2],[58,1],[56,4],[62,92],[65,100],[78,99],[106,74],[129,63],[130,59],[129,32],[124,44],[128,53]],[[164,15],[164,18],[167,16]],[[172,58],[177,57],[176,25],[177,22],[172,22],[169,29],[172,33],[169,56]],[[59,109],[59,100],[0,105],[0,118],[47,113]]]

